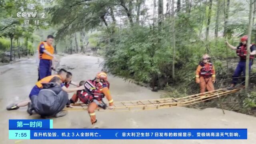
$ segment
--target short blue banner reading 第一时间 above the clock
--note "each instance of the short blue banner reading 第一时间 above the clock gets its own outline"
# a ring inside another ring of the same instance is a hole
[[[50,129],[52,120],[9,120],[9,130]]]

